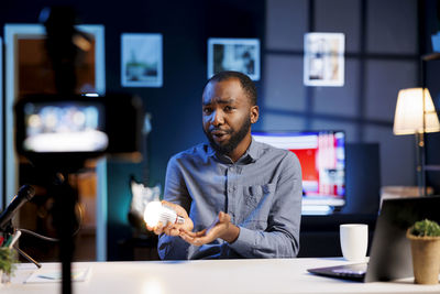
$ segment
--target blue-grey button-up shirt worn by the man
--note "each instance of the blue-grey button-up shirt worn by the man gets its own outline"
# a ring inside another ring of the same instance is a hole
[[[201,247],[162,235],[162,259],[295,258],[299,250],[301,168],[297,156],[252,140],[235,163],[199,144],[174,155],[167,166],[164,199],[183,206],[194,231],[211,225],[219,211],[240,228],[238,239]]]

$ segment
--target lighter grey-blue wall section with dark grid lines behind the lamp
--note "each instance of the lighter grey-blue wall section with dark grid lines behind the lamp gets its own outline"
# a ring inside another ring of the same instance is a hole
[[[419,84],[419,2],[266,1],[263,128],[344,130],[350,143],[380,143],[381,183],[415,185],[414,135],[394,135],[393,121],[398,91]],[[345,35],[343,86],[304,86],[307,32]]]

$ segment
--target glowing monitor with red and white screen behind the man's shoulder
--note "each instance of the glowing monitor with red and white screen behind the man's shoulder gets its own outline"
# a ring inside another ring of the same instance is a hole
[[[252,132],[255,141],[294,152],[302,171],[302,214],[327,215],[345,204],[343,131]]]

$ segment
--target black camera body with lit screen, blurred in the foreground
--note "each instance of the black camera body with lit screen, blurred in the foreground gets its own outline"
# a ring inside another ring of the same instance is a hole
[[[28,95],[15,105],[15,148],[57,165],[103,154],[139,161],[143,120],[142,100],[129,94]]]

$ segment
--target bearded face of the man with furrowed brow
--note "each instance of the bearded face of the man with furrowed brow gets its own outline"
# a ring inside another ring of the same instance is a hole
[[[230,155],[248,149],[251,124],[258,117],[258,108],[250,99],[237,78],[209,83],[202,96],[204,131],[212,148]]]

